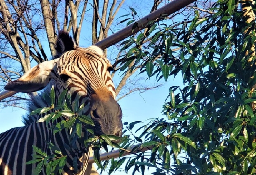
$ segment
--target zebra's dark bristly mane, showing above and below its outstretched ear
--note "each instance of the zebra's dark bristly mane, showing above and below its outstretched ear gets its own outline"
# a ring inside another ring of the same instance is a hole
[[[77,48],[76,42],[69,35],[67,31],[61,30],[59,31],[59,35],[57,41],[55,43],[56,53],[53,56],[53,59],[59,58],[63,53],[69,50],[75,50]],[[46,100],[43,98],[44,94],[49,94],[51,91],[52,83],[49,84],[42,90],[38,95],[33,95],[31,97],[31,101],[28,103],[28,112],[26,115],[22,116],[22,122],[24,125],[30,125],[33,123],[38,115],[29,115],[33,110],[38,108],[43,108],[49,106]]]

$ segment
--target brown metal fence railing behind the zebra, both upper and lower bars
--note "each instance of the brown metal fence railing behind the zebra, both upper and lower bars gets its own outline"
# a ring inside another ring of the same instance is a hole
[[[111,36],[101,40],[100,42],[96,43],[95,45],[100,47],[101,49],[106,49],[114,44],[117,44],[118,42],[122,41],[123,39],[137,33],[138,31],[144,29],[147,27],[148,22],[150,21],[156,21],[158,18],[162,17],[163,15],[169,16],[170,14],[173,14],[174,12],[186,7],[190,3],[194,2],[196,0],[173,0],[169,2],[168,4],[164,5],[163,7],[159,8],[158,10],[148,14],[144,18],[136,21],[137,27],[133,30],[132,26],[133,24],[128,25],[127,27],[123,28],[122,30],[112,34]],[[10,97],[17,92],[13,91],[3,91],[0,93],[0,101],[4,98]],[[122,156],[130,155],[131,150],[138,145],[134,145],[132,147],[129,147],[127,150],[125,150],[125,153],[122,154]],[[150,150],[151,147],[138,147],[135,152],[144,152],[147,150]],[[133,153],[135,153],[133,152]],[[110,158],[118,158],[119,157],[119,150],[115,150],[109,153],[102,153],[100,154],[100,160],[107,160]],[[89,158],[89,162],[93,163],[93,157]]]

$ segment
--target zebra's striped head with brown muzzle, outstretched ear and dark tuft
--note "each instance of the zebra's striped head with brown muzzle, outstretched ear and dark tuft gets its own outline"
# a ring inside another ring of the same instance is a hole
[[[103,51],[97,46],[78,47],[65,31],[59,32],[55,48],[55,59],[39,63],[4,89],[30,93],[54,85],[56,101],[67,89],[71,104],[77,98],[85,104],[82,113],[91,116],[95,131],[121,136],[122,111],[115,100],[112,65]]]

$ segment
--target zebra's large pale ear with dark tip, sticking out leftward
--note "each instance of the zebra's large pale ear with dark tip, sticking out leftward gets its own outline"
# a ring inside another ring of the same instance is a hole
[[[45,61],[30,69],[18,80],[7,83],[5,90],[15,92],[36,92],[45,88],[49,83],[51,71],[56,66],[58,59]]]

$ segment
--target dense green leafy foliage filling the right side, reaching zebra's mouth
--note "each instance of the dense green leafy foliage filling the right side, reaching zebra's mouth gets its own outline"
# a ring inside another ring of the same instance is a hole
[[[255,10],[250,1],[243,6]],[[120,56],[121,71],[140,68],[148,77],[166,81],[182,76],[184,84],[170,87],[163,105],[167,119],[152,119],[136,131],[139,121],[125,123],[120,146],[126,149],[135,142],[152,146],[151,155],[136,153],[101,164],[96,151],[100,168],[111,162],[111,174],[127,160],[125,171],[133,169],[133,174],[145,174],[147,167],[155,167],[155,175],[256,173],[255,21],[247,23],[252,16],[243,9],[238,0],[218,0],[204,18],[196,11],[193,20],[181,23],[160,19],[122,43],[123,50],[130,50]],[[80,120],[76,121],[79,131]],[[96,148],[107,149],[106,143],[120,147],[108,136],[92,135],[89,141]]]

